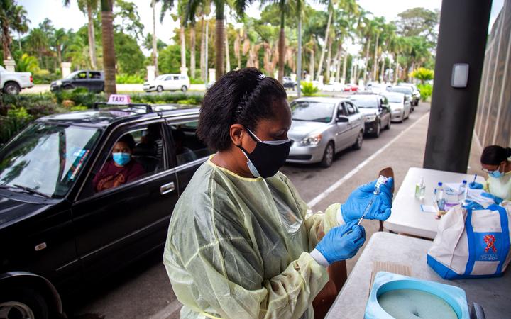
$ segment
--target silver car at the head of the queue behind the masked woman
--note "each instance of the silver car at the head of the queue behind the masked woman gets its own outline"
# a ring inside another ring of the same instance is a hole
[[[362,147],[364,122],[347,99],[309,97],[291,103],[293,140],[287,162],[320,163],[329,167],[336,152]]]

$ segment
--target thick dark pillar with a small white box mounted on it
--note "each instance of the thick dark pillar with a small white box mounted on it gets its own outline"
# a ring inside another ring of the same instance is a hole
[[[424,168],[465,173],[492,1],[442,1]],[[467,63],[464,88],[451,86],[453,65]]]

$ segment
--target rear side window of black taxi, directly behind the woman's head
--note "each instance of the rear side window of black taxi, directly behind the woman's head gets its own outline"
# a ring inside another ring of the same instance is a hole
[[[174,146],[177,166],[193,162],[212,154],[204,143],[197,138],[197,121],[170,124],[172,145]]]

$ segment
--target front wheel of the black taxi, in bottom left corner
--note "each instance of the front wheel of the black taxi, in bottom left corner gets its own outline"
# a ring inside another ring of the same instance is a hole
[[[2,319],[48,319],[45,298],[33,289],[12,289],[0,296],[0,318]]]

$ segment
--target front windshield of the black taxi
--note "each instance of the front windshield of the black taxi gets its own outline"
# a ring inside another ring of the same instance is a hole
[[[0,186],[64,197],[99,135],[97,128],[32,124],[0,151]]]

